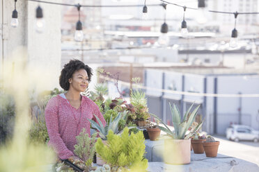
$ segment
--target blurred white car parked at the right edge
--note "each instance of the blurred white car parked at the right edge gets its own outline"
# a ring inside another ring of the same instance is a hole
[[[226,137],[227,139],[237,142],[240,140],[257,142],[259,141],[259,131],[253,130],[253,128],[249,126],[231,125],[226,129]]]

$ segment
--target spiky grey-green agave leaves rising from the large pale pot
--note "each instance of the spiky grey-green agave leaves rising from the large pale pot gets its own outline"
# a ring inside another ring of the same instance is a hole
[[[161,123],[163,123],[165,128],[162,126],[159,126],[159,128],[162,131],[166,132],[166,134],[169,137],[172,137],[173,139],[189,139],[203,125],[203,121],[201,123],[198,123],[198,126],[196,126],[196,128],[194,128],[193,131],[189,132],[186,135],[188,128],[191,126],[191,124],[195,120],[195,117],[196,117],[197,111],[198,111],[198,107],[200,107],[200,106],[198,105],[198,107],[196,107],[195,110],[193,112],[191,112],[191,115],[188,118],[188,114],[191,110],[191,107],[193,107],[193,105],[194,105],[194,103],[193,103],[191,105],[191,107],[189,107],[189,110],[187,110],[187,112],[185,113],[185,116],[183,117],[183,119],[181,119],[181,115],[180,115],[180,111],[178,110],[178,107],[176,107],[175,104],[173,104],[173,107],[171,106],[170,103],[169,103],[169,105],[170,105],[171,114],[172,114],[174,131],[170,130],[168,128],[168,126],[166,126],[166,124],[162,121],[162,119],[159,119],[159,117],[157,117],[155,114],[151,114],[151,115],[153,117],[155,117],[156,119],[158,119]]]

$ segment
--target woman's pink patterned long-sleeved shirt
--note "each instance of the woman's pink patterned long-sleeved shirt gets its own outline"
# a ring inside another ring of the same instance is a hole
[[[58,157],[62,160],[74,155],[74,145],[77,144],[76,136],[83,128],[86,128],[86,133],[90,135],[91,123],[87,119],[97,122],[93,114],[105,126],[106,122],[99,107],[86,96],[82,96],[78,109],[72,107],[68,100],[60,95],[49,100],[45,109],[49,145],[54,147]]]

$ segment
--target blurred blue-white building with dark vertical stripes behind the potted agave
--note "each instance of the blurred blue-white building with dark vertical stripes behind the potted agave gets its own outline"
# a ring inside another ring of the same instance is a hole
[[[259,75],[256,73],[240,72],[235,69],[189,67],[189,69],[146,69],[144,78],[149,111],[157,114],[169,125],[172,121],[168,102],[175,103],[183,113],[194,103],[194,107],[201,105],[196,121],[205,119],[203,130],[209,134],[224,135],[231,123],[259,129],[259,97],[240,96],[258,95]],[[178,93],[162,92],[162,89]]]

